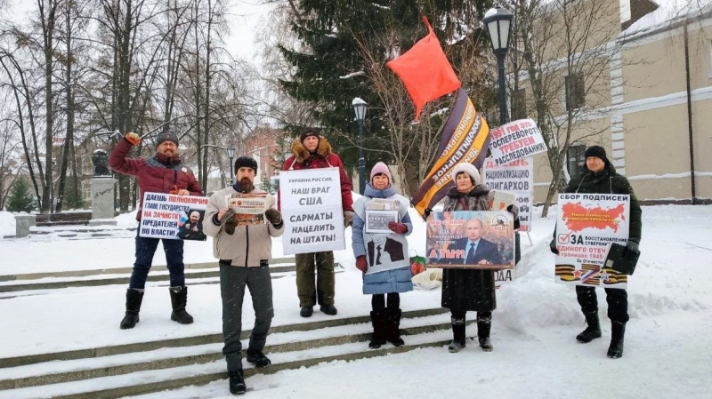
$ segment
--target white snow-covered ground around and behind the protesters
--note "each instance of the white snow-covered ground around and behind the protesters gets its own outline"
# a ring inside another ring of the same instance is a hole
[[[555,210],[554,210],[555,211]],[[3,220],[0,215],[0,220]],[[425,226],[417,217],[410,244],[425,246]],[[2,227],[2,226],[0,226]],[[446,397],[709,397],[712,387],[712,206],[643,207],[642,257],[629,278],[631,320],[625,355],[606,358],[610,323],[599,290],[603,339],[588,345],[574,337],[585,324],[572,288],[554,283],[554,255],[548,242],[554,216],[535,216],[530,245],[522,236],[522,263],[514,283],[498,291],[493,315],[495,351],[473,343],[453,355],[446,348],[418,349],[356,362],[333,362],[247,379],[260,398],[446,398]],[[347,239],[350,235],[347,232]],[[279,240],[274,255],[281,256]],[[131,239],[0,242],[0,275],[89,267],[128,267],[134,259]],[[156,263],[165,263],[157,252]],[[345,267],[337,275],[340,316],[368,315],[369,297],[360,292],[360,272],[350,248],[336,253]],[[186,245],[186,261],[212,261],[210,243]],[[298,323],[293,274],[273,280],[274,324]],[[141,323],[118,330],[123,314],[122,286],[44,291],[41,295],[0,299],[0,358],[85,347],[169,339],[221,331],[219,286],[190,287],[188,310],[196,323],[168,319],[165,283],[150,283]],[[440,290],[403,294],[404,310],[438,307]],[[248,297],[244,325],[253,323]],[[316,319],[328,316],[316,312]],[[468,315],[468,318],[473,315]],[[475,333],[474,327],[468,335]],[[274,337],[274,339],[278,339]],[[281,337],[279,340],[287,339]],[[408,340],[408,337],[406,337]],[[268,339],[269,342],[269,339]],[[319,351],[320,349],[314,349]],[[0,369],[2,371],[2,369]],[[162,397],[231,397],[227,382],[187,387]]]

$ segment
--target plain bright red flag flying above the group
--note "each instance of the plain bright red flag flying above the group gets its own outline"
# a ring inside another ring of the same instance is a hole
[[[410,98],[416,105],[416,121],[425,103],[455,92],[462,85],[442,52],[433,27],[423,17],[430,33],[420,39],[408,52],[386,64],[401,77]]]

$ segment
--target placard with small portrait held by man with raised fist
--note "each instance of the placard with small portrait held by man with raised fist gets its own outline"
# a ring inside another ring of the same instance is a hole
[[[169,240],[205,241],[205,196],[144,193],[139,235]]]

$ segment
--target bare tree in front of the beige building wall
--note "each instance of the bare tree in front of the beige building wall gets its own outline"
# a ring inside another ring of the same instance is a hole
[[[618,6],[608,0],[516,0],[514,51],[552,171],[543,216],[569,179],[564,164],[570,146],[601,140],[606,130],[591,121],[610,105],[611,60],[620,51]]]

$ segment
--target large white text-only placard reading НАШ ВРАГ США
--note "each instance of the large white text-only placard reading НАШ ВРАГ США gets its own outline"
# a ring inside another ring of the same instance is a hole
[[[282,171],[279,193],[286,255],[346,247],[338,168]]]

